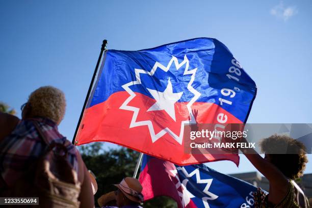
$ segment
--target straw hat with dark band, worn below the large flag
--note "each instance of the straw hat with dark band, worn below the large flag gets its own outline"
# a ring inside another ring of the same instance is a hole
[[[142,186],[138,179],[125,177],[119,184],[114,184],[128,199],[142,203],[144,200]]]

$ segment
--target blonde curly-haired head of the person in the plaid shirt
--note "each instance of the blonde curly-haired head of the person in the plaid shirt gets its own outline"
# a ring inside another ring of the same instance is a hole
[[[64,93],[51,86],[40,87],[32,92],[22,106],[22,119],[45,117],[58,125],[65,115],[66,100]]]

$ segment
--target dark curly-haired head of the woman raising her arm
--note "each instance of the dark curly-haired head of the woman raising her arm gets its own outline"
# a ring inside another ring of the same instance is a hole
[[[265,159],[275,165],[286,177],[297,179],[303,175],[308,162],[305,146],[289,136],[272,135],[260,143]]]

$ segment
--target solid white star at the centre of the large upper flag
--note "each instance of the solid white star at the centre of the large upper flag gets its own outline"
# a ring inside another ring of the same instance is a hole
[[[154,97],[156,102],[147,111],[160,111],[165,110],[168,115],[175,121],[174,103],[178,101],[183,92],[173,93],[172,84],[168,80],[167,88],[164,92],[148,89],[148,92]]]

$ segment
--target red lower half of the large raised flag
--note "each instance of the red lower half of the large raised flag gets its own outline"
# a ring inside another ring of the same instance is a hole
[[[106,101],[98,103],[84,112],[76,144],[105,141],[119,144],[154,157],[171,161],[177,165],[198,164],[219,160],[230,160],[239,164],[237,154],[190,154],[185,152],[183,138],[178,140],[184,129],[183,121],[190,120],[187,103],[174,104],[175,120],[165,110],[148,111],[155,100],[136,93],[129,98],[127,92],[116,92]],[[123,108],[121,108],[123,106]],[[124,108],[126,106],[126,108]],[[215,123],[217,116],[227,115],[227,123],[242,123],[235,116],[214,103],[194,102],[192,110],[198,110],[198,123]],[[182,126],[182,127],[181,127]],[[161,135],[159,138],[155,135]]]

